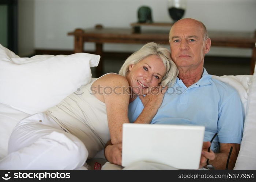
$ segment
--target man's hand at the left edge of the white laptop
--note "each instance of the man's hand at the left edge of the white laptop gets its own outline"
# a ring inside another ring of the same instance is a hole
[[[104,154],[110,163],[122,165],[122,143],[106,146]]]

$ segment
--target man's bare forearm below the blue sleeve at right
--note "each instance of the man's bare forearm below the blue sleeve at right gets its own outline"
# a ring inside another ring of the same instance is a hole
[[[228,169],[233,169],[236,164],[236,159],[240,150],[240,144],[237,143],[220,143],[219,153],[215,153],[215,159],[209,161],[209,163],[215,167],[215,169],[226,169],[227,158],[229,156],[230,147],[233,147],[232,153],[229,159]]]

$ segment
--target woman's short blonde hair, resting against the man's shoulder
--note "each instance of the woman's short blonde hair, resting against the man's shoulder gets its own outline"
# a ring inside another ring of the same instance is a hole
[[[161,80],[161,84],[163,86],[166,86],[167,84],[174,84],[178,75],[178,70],[175,63],[171,60],[170,52],[167,48],[154,42],[145,44],[142,48],[140,48],[140,50],[129,56],[121,67],[119,74],[126,76],[129,72],[129,66],[131,64],[137,64],[142,59],[145,59],[150,55],[157,55],[162,60],[166,68],[166,73]]]

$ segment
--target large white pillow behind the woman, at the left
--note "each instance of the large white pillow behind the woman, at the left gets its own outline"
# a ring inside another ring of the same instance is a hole
[[[27,114],[45,111],[89,83],[99,59],[87,53],[19,58],[0,44],[0,103]]]

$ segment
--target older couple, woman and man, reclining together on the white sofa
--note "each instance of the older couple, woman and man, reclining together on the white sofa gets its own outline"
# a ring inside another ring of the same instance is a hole
[[[224,169],[233,147],[233,169],[244,114],[236,90],[203,68],[211,46],[205,26],[194,19],[179,20],[169,43],[172,58],[166,48],[148,43],[127,58],[119,74],[103,75],[83,87],[82,95],[71,94],[20,121],[0,169],[77,169],[105,147],[106,159],[120,165],[122,125],[129,122],[203,125],[200,167],[210,163]],[[182,94],[164,94],[167,86],[180,87]]]

